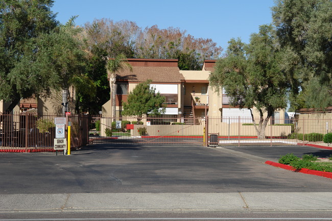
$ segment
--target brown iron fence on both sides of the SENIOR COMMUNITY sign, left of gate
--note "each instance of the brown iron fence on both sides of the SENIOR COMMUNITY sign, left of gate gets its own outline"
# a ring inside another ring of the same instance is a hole
[[[0,115],[0,146],[5,149],[52,150],[55,138],[54,113],[3,113]],[[87,115],[70,115],[72,122],[71,145],[73,148],[88,142]],[[84,134],[85,133],[85,134]]]

